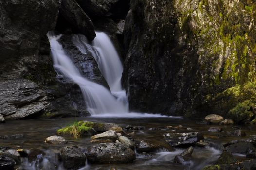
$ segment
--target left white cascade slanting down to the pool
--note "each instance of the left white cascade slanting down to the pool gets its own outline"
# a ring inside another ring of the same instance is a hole
[[[127,106],[120,100],[120,97],[114,97],[107,88],[87,80],[80,74],[72,60],[63,50],[62,45],[58,42],[61,35],[55,36],[48,33],[47,36],[51,44],[51,55],[54,61],[54,68],[79,85],[86,102],[87,110],[91,115],[128,112]],[[116,87],[113,87],[113,90],[119,90],[118,88],[118,85],[116,85]]]

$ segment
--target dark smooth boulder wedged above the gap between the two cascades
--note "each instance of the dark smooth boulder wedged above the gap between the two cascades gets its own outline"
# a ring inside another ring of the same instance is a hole
[[[91,19],[75,0],[62,0],[60,14],[73,25],[74,28],[77,28],[80,33],[84,34],[89,41],[92,41],[96,37]]]

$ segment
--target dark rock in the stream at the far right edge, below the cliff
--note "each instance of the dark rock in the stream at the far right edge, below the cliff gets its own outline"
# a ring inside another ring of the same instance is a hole
[[[249,142],[238,142],[226,147],[231,153],[247,154],[250,150],[255,150],[254,145]]]

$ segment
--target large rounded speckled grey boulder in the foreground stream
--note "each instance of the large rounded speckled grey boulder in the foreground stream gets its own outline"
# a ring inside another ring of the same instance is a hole
[[[86,153],[90,163],[128,163],[135,160],[135,153],[121,143],[100,143],[88,148]]]

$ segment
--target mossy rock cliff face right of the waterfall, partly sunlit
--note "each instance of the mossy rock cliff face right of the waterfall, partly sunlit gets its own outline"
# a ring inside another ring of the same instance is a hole
[[[245,111],[252,120],[255,18],[253,0],[132,0],[123,73],[131,109],[230,117]]]

